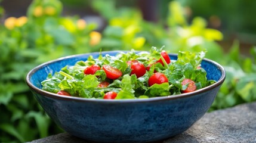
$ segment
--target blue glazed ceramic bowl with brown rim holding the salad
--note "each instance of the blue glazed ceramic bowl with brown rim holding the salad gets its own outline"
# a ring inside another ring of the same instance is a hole
[[[102,52],[116,55],[119,51]],[[41,82],[61,67],[97,58],[99,53],[72,55],[41,64],[26,77],[27,85],[46,113],[71,135],[96,142],[152,142],[189,129],[211,106],[226,73],[220,64],[204,59],[208,79],[217,82],[187,94],[140,100],[95,100],[67,97],[42,90]],[[169,54],[172,60],[177,55]]]

